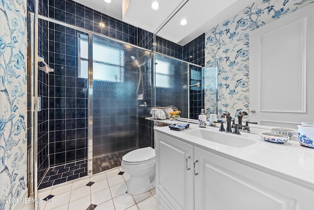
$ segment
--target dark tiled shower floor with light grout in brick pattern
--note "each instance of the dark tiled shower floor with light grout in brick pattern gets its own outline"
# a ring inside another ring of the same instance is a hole
[[[80,160],[48,169],[38,189],[87,176],[86,161]]]

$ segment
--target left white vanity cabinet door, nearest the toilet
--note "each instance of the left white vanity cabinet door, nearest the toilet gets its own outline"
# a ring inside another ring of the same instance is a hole
[[[167,209],[193,210],[193,146],[158,132],[155,141],[157,203],[164,208],[166,198]]]

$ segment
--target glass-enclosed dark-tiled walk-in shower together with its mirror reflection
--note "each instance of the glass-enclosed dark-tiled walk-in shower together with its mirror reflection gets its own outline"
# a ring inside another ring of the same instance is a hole
[[[38,41],[39,56],[54,69],[38,70],[33,81],[35,98],[42,97],[34,117],[39,189],[154,147],[153,123],[145,120],[152,106],[174,105],[188,117],[187,62],[43,16]]]

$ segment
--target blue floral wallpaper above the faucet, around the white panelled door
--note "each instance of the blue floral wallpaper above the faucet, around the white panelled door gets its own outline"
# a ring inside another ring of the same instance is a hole
[[[205,66],[218,62],[218,114],[249,112],[249,32],[314,0],[257,0],[205,34]]]

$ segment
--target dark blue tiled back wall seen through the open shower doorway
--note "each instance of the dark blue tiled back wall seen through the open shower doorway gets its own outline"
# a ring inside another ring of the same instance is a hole
[[[87,157],[87,79],[78,75],[79,33],[49,24],[49,64],[54,68],[49,75],[51,167]]]

